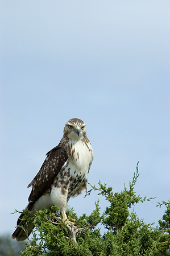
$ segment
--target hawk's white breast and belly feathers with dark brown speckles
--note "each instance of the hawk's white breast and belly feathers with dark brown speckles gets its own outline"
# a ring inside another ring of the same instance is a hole
[[[66,210],[67,202],[72,196],[79,195],[87,188],[88,172],[93,160],[93,149],[90,143],[77,141],[72,144],[71,156],[64,163],[61,171],[51,185],[51,192],[45,193],[36,202],[34,209],[57,205]]]

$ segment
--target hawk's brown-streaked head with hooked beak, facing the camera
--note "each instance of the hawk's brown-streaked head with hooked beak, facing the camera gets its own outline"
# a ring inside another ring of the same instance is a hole
[[[86,125],[81,119],[70,119],[64,127],[64,135],[67,135],[70,139],[81,139],[86,135]]]

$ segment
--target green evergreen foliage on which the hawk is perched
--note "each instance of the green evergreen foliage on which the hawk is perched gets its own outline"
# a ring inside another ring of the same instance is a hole
[[[158,206],[166,208],[159,226],[152,228],[140,220],[132,206],[152,199],[136,195],[134,187],[138,179],[138,164],[129,188],[121,192],[113,192],[111,187],[102,184],[92,186],[92,191],[104,196],[109,206],[100,213],[99,200],[93,212],[78,217],[73,209],[68,210],[69,220],[75,223],[74,228],[66,225],[60,218],[59,209],[42,209],[28,217],[35,224],[33,238],[28,241],[22,255],[48,256],[160,256],[169,255],[170,245],[170,201]],[[25,217],[26,218],[26,217]],[[98,225],[105,227],[101,234]],[[72,231],[71,231],[72,229]]]

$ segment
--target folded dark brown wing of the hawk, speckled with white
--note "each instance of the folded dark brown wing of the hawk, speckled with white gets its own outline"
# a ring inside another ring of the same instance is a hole
[[[32,187],[28,201],[38,200],[50,188],[67,159],[67,151],[60,144],[47,153],[47,158],[44,160],[40,171],[28,185],[28,188]]]

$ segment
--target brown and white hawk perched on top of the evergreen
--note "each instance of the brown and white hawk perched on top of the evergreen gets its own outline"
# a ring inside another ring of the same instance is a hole
[[[93,161],[93,148],[86,136],[85,122],[70,119],[64,127],[64,135],[58,146],[47,153],[38,174],[28,185],[32,187],[28,197],[28,210],[40,210],[56,205],[60,208],[64,221],[68,221],[67,202],[72,196],[79,195],[87,188],[88,172]],[[20,214],[17,227],[12,235],[16,241],[23,241],[30,236],[34,228],[28,223],[27,233],[20,226],[26,225]]]

